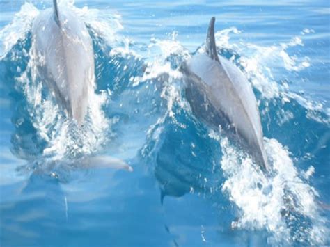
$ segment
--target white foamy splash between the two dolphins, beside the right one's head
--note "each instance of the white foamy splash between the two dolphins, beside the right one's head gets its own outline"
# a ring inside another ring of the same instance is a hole
[[[158,143],[164,130],[164,125],[168,118],[173,124],[183,127],[175,118],[175,108],[189,109],[189,104],[182,97],[184,84],[182,83],[182,73],[178,67],[182,61],[187,60],[191,55],[189,51],[182,47],[176,38],[177,33],[172,33],[168,40],[158,40],[152,38],[148,46],[149,61],[142,77],[134,78],[133,86],[138,86],[143,81],[153,81],[157,83],[160,90],[160,97],[166,102],[166,111],[161,115],[154,125],[151,125],[147,132],[148,142],[144,145],[142,153],[146,153],[150,141]],[[178,107],[175,107],[178,106]]]

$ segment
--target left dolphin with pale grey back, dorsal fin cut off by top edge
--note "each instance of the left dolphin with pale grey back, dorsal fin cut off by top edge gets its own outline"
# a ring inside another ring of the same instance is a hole
[[[91,36],[84,22],[68,8],[40,13],[33,23],[37,75],[54,92],[68,116],[84,122],[95,84]]]

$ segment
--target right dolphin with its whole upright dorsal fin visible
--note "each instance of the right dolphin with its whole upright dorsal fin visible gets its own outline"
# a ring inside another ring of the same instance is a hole
[[[262,170],[268,170],[256,97],[244,74],[217,54],[212,17],[205,53],[182,63],[185,95],[191,110],[212,127],[221,127],[239,140]]]

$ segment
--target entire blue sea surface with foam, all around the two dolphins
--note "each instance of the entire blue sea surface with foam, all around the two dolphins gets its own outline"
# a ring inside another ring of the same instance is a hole
[[[330,244],[329,1],[61,1],[93,39],[82,128],[34,77],[51,7],[0,0],[1,246]],[[184,95],[178,67],[212,16],[256,94],[267,175]]]

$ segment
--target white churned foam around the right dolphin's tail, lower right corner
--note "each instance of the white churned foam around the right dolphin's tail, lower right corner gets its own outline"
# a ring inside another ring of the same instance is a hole
[[[294,221],[294,217],[288,216],[293,210],[312,223],[308,229],[299,229],[308,234],[308,241],[313,244],[326,241],[329,230],[318,210],[317,191],[299,177],[286,148],[275,139],[265,138],[265,149],[272,164],[272,172],[265,175],[253,164],[251,157],[231,145],[228,138],[215,132],[211,132],[210,137],[220,142],[223,151],[221,168],[226,181],[222,191],[228,193],[239,212],[239,218],[232,223],[233,228],[265,229],[273,235],[269,241],[290,243],[299,237],[299,232],[292,233],[285,221],[285,218]],[[308,175],[311,176],[311,171]],[[288,191],[293,196],[288,196]]]

